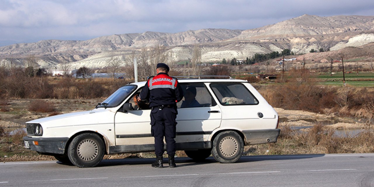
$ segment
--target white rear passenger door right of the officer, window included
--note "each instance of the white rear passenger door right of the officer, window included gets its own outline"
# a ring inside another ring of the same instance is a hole
[[[181,87],[184,98],[177,104],[177,146],[208,148],[209,135],[221,125],[221,109],[204,83],[181,83]]]

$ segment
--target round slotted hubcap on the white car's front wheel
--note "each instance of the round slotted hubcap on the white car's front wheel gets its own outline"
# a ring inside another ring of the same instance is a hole
[[[85,139],[79,142],[77,146],[77,153],[80,159],[90,161],[96,158],[99,152],[99,147],[95,141]]]

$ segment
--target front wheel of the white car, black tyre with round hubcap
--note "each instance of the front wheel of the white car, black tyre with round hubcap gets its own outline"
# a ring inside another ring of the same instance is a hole
[[[104,157],[104,142],[97,134],[80,134],[71,141],[68,157],[79,168],[95,167]]]

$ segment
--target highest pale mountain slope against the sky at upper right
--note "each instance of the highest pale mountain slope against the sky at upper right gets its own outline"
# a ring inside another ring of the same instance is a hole
[[[302,15],[273,25],[245,30],[239,39],[294,38],[353,31],[374,30],[374,16],[331,16]]]

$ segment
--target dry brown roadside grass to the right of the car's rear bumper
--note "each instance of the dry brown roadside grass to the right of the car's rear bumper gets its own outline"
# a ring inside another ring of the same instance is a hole
[[[282,130],[284,130],[282,132]],[[373,153],[374,127],[368,126],[356,136],[337,136],[333,129],[316,124],[307,131],[283,127],[276,143],[245,147],[245,154],[327,154]]]

